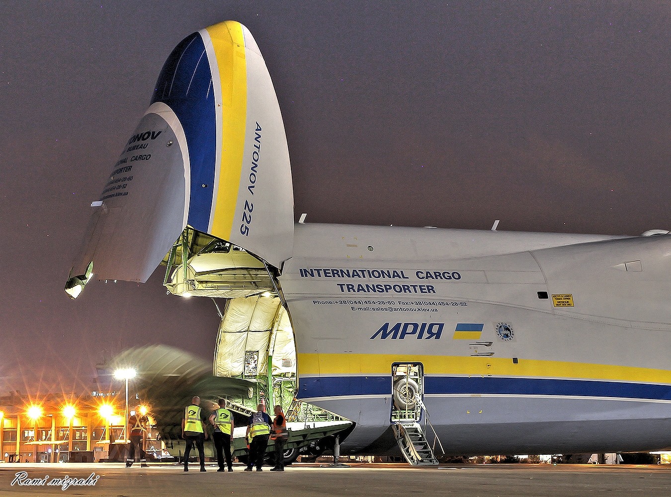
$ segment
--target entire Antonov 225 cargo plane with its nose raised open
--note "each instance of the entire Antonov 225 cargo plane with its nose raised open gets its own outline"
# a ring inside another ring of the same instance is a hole
[[[215,376],[289,382],[352,422],[341,453],[434,461],[431,427],[451,454],[671,447],[668,231],[295,224],[277,97],[236,21],[170,54],[92,207],[71,296],[164,262],[170,292],[229,299]]]

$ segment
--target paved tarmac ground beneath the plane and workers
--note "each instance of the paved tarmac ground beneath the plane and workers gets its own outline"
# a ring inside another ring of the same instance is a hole
[[[185,473],[178,465],[136,465],[126,469],[122,463],[0,463],[0,495],[668,497],[671,491],[670,466],[360,463],[330,468],[298,463],[284,473],[270,472],[270,467],[244,472],[242,465],[235,465],[232,473],[218,473],[215,465],[207,465],[207,472],[201,473],[196,463]],[[70,482],[66,476],[79,479],[79,484],[63,490]],[[61,479],[55,482],[60,486],[53,483],[56,479]]]

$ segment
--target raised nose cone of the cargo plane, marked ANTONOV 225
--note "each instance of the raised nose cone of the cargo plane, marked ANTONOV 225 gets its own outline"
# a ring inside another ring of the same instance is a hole
[[[146,282],[187,225],[275,268],[291,257],[287,137],[246,27],[215,24],[172,51],[92,207],[66,283],[72,298],[93,276]]]

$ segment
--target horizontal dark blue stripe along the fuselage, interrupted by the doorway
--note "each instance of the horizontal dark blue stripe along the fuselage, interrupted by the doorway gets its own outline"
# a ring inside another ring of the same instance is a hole
[[[671,400],[671,385],[547,378],[425,376],[425,394],[501,394]],[[301,398],[390,395],[391,376],[301,377]]]

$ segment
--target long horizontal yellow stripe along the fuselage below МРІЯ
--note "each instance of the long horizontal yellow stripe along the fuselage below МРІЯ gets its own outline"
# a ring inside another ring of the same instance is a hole
[[[447,355],[391,355],[350,353],[299,353],[299,374],[391,374],[393,363],[421,362],[427,375],[523,376],[671,384],[671,371],[609,364]]]

